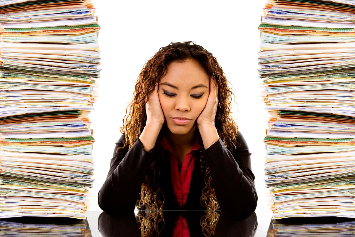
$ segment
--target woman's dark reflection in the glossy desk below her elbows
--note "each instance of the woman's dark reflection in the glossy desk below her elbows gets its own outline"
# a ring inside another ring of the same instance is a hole
[[[152,216],[154,218],[149,218]],[[132,212],[126,217],[110,216],[107,212],[102,212],[98,219],[98,228],[103,237],[252,237],[257,225],[255,212],[244,220],[230,219],[219,211],[138,211],[137,216]]]

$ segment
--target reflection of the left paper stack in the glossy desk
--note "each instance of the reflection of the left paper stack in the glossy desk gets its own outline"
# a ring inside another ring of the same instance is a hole
[[[87,220],[66,217],[12,217],[0,219],[0,236],[91,237]]]

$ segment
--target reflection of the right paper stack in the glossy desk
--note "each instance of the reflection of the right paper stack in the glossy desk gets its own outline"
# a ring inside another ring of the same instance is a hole
[[[292,217],[271,220],[267,237],[355,236],[355,219],[346,217]]]

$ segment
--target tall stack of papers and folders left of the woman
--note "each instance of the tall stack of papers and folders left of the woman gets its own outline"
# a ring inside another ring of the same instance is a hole
[[[94,12],[87,0],[0,0],[0,218],[85,218]]]

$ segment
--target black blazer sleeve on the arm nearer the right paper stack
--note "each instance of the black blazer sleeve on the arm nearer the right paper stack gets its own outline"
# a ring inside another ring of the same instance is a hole
[[[257,205],[258,196],[251,171],[249,148],[238,131],[241,146],[231,151],[221,139],[205,150],[220,210],[233,219],[244,219]]]

